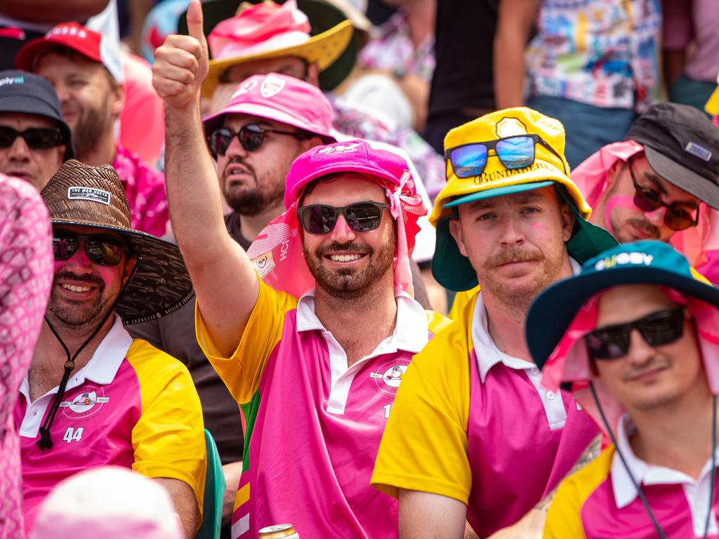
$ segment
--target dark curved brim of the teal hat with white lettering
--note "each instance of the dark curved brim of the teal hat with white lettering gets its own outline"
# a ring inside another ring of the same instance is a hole
[[[529,308],[526,340],[537,367],[544,367],[574,315],[593,295],[615,286],[644,284],[672,287],[719,308],[718,288],[669,270],[627,266],[577,275],[547,287]]]

